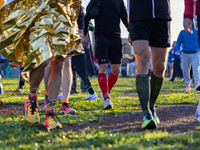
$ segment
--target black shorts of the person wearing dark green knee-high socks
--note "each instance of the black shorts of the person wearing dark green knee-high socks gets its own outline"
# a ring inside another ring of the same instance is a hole
[[[165,19],[137,20],[129,23],[132,41],[147,40],[158,48],[170,47],[170,21]]]

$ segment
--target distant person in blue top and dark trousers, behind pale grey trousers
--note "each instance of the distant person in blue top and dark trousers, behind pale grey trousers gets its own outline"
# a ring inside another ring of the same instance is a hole
[[[172,77],[170,78],[169,82],[174,82],[174,79],[178,76],[180,76],[180,78],[183,77],[183,73],[182,73],[182,69],[181,69],[181,49],[178,49],[175,51],[175,46],[176,46],[176,41],[173,42],[172,45],[172,50],[171,55],[174,58],[174,65],[173,65],[173,74]]]

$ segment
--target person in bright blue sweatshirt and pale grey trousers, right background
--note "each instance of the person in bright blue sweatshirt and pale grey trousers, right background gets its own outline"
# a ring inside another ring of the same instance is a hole
[[[181,62],[184,83],[186,84],[186,91],[190,90],[190,68],[192,65],[193,77],[194,77],[194,91],[199,86],[199,43],[198,43],[198,30],[195,29],[193,23],[193,33],[188,33],[185,30],[181,30],[179,33],[175,51],[179,51],[182,46]]]

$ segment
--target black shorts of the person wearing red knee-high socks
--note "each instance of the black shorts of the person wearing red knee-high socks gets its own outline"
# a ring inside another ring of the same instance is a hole
[[[95,41],[95,57],[98,64],[121,64],[122,40],[120,38],[98,37]]]

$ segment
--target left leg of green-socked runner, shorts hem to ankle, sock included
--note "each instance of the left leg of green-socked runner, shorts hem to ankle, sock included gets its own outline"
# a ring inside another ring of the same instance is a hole
[[[150,63],[150,49],[149,42],[146,40],[133,41],[133,48],[136,58],[137,76],[136,88],[140,104],[142,106],[143,115],[150,113],[149,109],[149,63]]]

